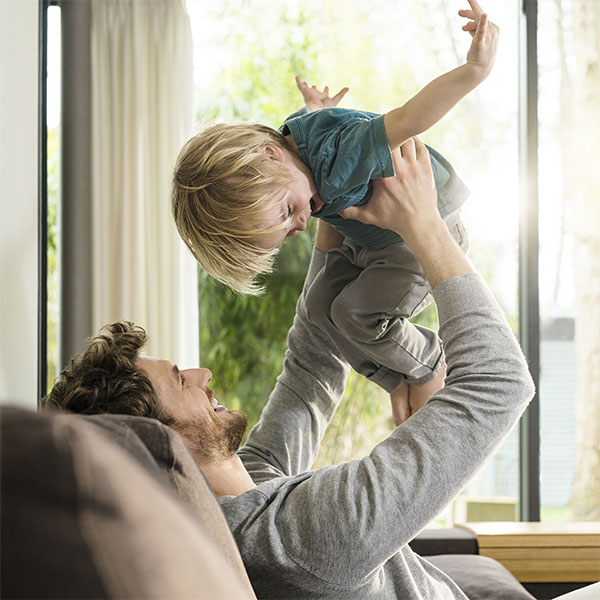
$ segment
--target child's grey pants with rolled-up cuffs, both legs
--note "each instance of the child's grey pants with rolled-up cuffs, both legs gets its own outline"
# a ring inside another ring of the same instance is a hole
[[[467,252],[460,217],[454,213],[446,224]],[[355,371],[392,392],[404,378],[411,385],[427,383],[444,364],[437,333],[408,320],[430,304],[430,292],[404,242],[368,250],[346,238],[327,253],[306,308],[309,320],[329,334]]]

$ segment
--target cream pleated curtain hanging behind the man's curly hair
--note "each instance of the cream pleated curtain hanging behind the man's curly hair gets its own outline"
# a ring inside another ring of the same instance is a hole
[[[193,127],[184,0],[93,0],[93,321],[146,328],[148,351],[198,362],[197,269],[169,203]]]

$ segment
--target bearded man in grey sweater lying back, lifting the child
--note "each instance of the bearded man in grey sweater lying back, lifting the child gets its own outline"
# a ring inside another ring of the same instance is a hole
[[[415,253],[437,302],[448,371],[445,387],[412,415],[407,405],[410,418],[368,457],[309,471],[349,370],[304,304],[325,252],[340,243],[329,229],[317,236],[283,371],[237,453],[245,422],[215,403],[210,371],[139,357],[143,335],[130,325],[92,342],[89,360],[76,359],[47,399],[76,412],[132,412],[172,425],[219,496],[259,598],[466,598],[407,542],[497,449],[533,395],[504,316],[439,216],[425,146],[409,140],[401,150],[396,177],[376,182],[371,201],[344,216],[395,231]],[[121,346],[127,356],[106,358]],[[86,371],[100,383],[84,382]],[[129,410],[120,392],[132,380],[142,391]],[[69,394],[74,387],[88,392]]]

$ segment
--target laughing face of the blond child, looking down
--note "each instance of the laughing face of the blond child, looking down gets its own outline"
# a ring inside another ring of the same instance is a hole
[[[266,225],[275,227],[288,217],[290,223],[285,229],[276,231],[263,240],[266,248],[277,248],[283,244],[286,237],[293,237],[304,231],[310,216],[323,206],[310,169],[301,160],[289,154],[283,161],[283,166],[288,169],[292,181],[287,188],[282,189],[280,200],[273,203],[273,211]]]

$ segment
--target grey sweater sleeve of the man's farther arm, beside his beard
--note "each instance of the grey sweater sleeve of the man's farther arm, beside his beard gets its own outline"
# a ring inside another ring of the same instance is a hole
[[[255,483],[306,471],[337,408],[350,367],[329,338],[306,318],[306,290],[325,264],[325,253],[313,257],[288,334],[283,370],[238,452]]]

